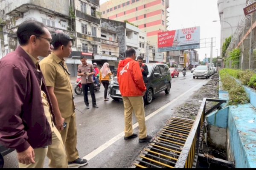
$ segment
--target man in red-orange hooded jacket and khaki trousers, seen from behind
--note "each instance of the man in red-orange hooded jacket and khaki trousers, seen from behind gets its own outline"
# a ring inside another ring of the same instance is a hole
[[[132,139],[137,137],[132,129],[132,112],[134,111],[139,123],[139,142],[148,142],[152,137],[147,135],[145,125],[145,111],[143,96],[146,87],[143,81],[140,65],[136,59],[136,51],[128,48],[125,51],[126,59],[118,64],[117,79],[119,89],[125,108],[125,137],[124,139]]]

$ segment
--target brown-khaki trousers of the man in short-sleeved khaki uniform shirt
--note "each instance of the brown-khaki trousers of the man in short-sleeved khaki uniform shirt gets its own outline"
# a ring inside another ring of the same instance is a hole
[[[72,116],[67,117],[65,122],[67,122],[67,128],[59,132],[61,133],[64,146],[66,147],[67,161],[71,162],[79,158],[79,154],[76,149],[76,113],[73,113]]]

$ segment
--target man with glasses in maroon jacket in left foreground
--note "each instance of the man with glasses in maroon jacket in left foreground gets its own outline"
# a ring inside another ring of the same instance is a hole
[[[52,51],[46,26],[26,20],[17,28],[20,46],[0,60],[0,143],[17,151],[20,168],[67,168],[64,145],[56,129],[39,58]],[[14,88],[10,88],[14,85]],[[54,153],[48,152],[55,147]]]

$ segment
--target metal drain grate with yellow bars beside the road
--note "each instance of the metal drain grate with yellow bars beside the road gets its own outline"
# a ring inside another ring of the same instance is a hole
[[[173,117],[133,163],[135,168],[174,168],[194,120]]]

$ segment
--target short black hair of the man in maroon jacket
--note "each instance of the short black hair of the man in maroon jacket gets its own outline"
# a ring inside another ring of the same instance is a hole
[[[27,45],[32,35],[41,36],[45,34],[46,26],[35,19],[29,19],[21,23],[17,29],[17,39],[20,45]]]

